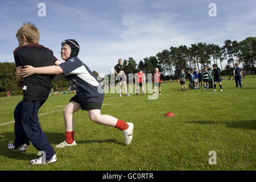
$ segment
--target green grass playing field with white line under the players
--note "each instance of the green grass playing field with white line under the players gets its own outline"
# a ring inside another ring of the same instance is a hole
[[[74,115],[77,146],[55,148],[57,162],[42,166],[29,164],[38,154],[32,144],[26,152],[7,149],[14,122],[3,123],[14,121],[22,96],[0,97],[0,170],[255,170],[256,75],[242,81],[242,89],[222,81],[223,92],[217,85],[216,92],[181,93],[179,82],[162,84],[157,100],[107,93],[101,113],[134,123],[131,144],[125,146],[121,131],[93,123],[80,110]],[[53,147],[64,140],[62,109],[73,95],[49,97],[39,110]],[[164,117],[167,112],[175,116]],[[217,164],[208,163],[210,151],[216,151]]]

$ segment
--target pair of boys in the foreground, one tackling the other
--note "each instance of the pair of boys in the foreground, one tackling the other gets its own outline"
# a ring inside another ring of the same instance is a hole
[[[79,109],[87,110],[93,122],[121,130],[125,144],[130,144],[133,139],[133,123],[101,114],[104,100],[102,85],[87,65],[77,57],[80,51],[79,43],[73,39],[61,43],[61,59],[64,60],[64,63],[61,63],[53,56],[51,49],[38,44],[39,37],[38,29],[31,23],[24,23],[16,32],[19,47],[14,50],[15,77],[17,84],[23,88],[23,100],[15,107],[15,139],[7,148],[26,151],[31,142],[45,155],[32,159],[30,164],[49,164],[57,161],[56,152],[40,126],[38,110],[51,92],[51,80],[59,74],[67,78],[76,90],[76,95],[65,106],[65,140],[56,148],[76,146],[73,114]]]

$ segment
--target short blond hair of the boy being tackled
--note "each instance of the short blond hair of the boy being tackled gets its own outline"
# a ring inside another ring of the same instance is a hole
[[[20,39],[22,36],[26,36],[28,43],[38,43],[40,38],[40,32],[36,28],[35,24],[23,23],[23,26],[16,32],[16,38]]]

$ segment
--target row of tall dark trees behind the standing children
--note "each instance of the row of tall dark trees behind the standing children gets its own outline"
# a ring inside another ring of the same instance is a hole
[[[255,72],[256,63],[256,37],[248,37],[241,42],[237,40],[225,40],[224,46],[217,44],[197,43],[190,47],[179,46],[164,49],[155,56],[146,57],[139,61],[139,64],[129,57],[123,60],[125,73],[137,73],[142,70],[144,73],[154,73],[155,68],[164,74],[164,77],[176,78],[180,69],[187,72],[195,67],[203,69],[204,66],[212,67],[212,61],[222,69],[222,74],[232,75],[235,63],[242,63],[244,70]],[[223,68],[223,62],[227,65]]]

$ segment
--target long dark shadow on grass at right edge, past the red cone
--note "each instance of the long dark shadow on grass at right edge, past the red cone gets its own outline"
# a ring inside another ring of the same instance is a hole
[[[230,122],[213,122],[213,121],[189,121],[189,123],[197,123],[201,125],[226,125],[234,129],[256,130],[256,120],[250,121],[230,121]]]

